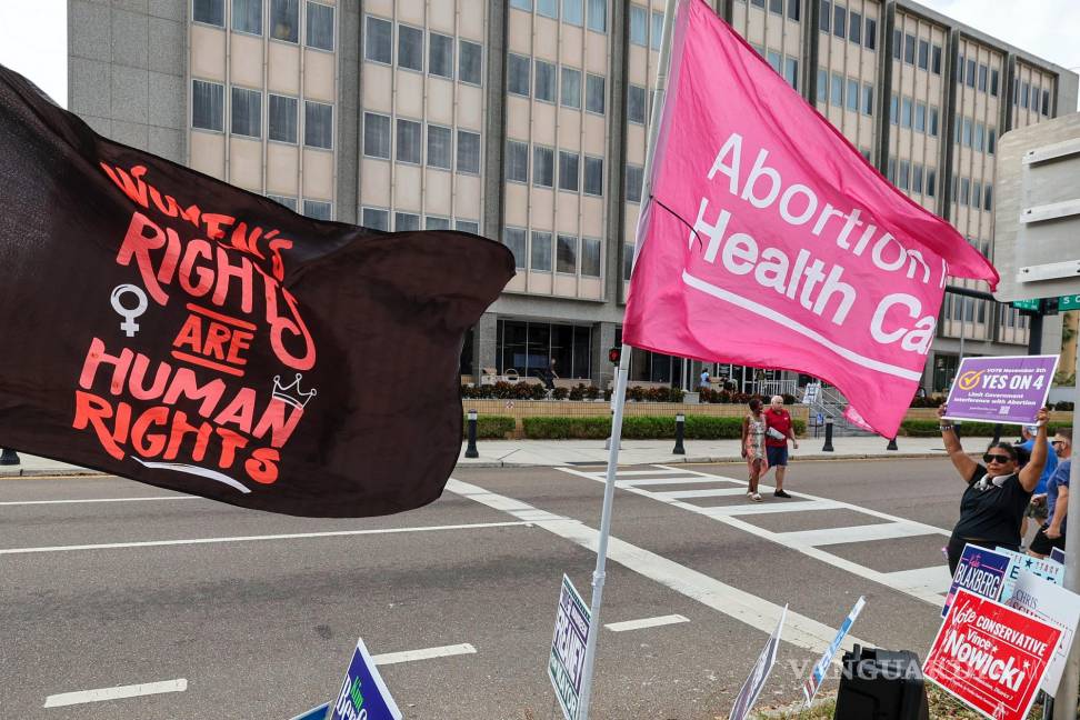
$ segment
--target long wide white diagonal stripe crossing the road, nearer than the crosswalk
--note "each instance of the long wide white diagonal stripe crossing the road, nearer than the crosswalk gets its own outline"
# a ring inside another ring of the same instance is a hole
[[[453,478],[447,482],[447,490],[476,500],[489,508],[508,512],[516,518],[528,519],[538,528],[543,528],[591,552],[597,552],[600,533],[579,520],[540,510],[521,500],[496,494]],[[608,543],[608,558],[612,562],[618,562],[642,577],[659,582],[691,600],[739,620],[751,628],[757,628],[767,634],[776,628],[780,613],[783,611],[782,607],[769,602],[764,598],[724,584],[703,572],[681,566],[673,560],[632,546],[619,538],[611,537]],[[599,618],[597,621],[599,621]],[[788,620],[784,627],[787,630],[783,639],[787,642],[806,648],[811,652],[821,652],[821,648],[828,647],[836,636],[836,629],[791,610],[788,611]],[[864,640],[851,636],[848,636],[844,640],[843,647],[850,650],[856,643],[873,647]]]

